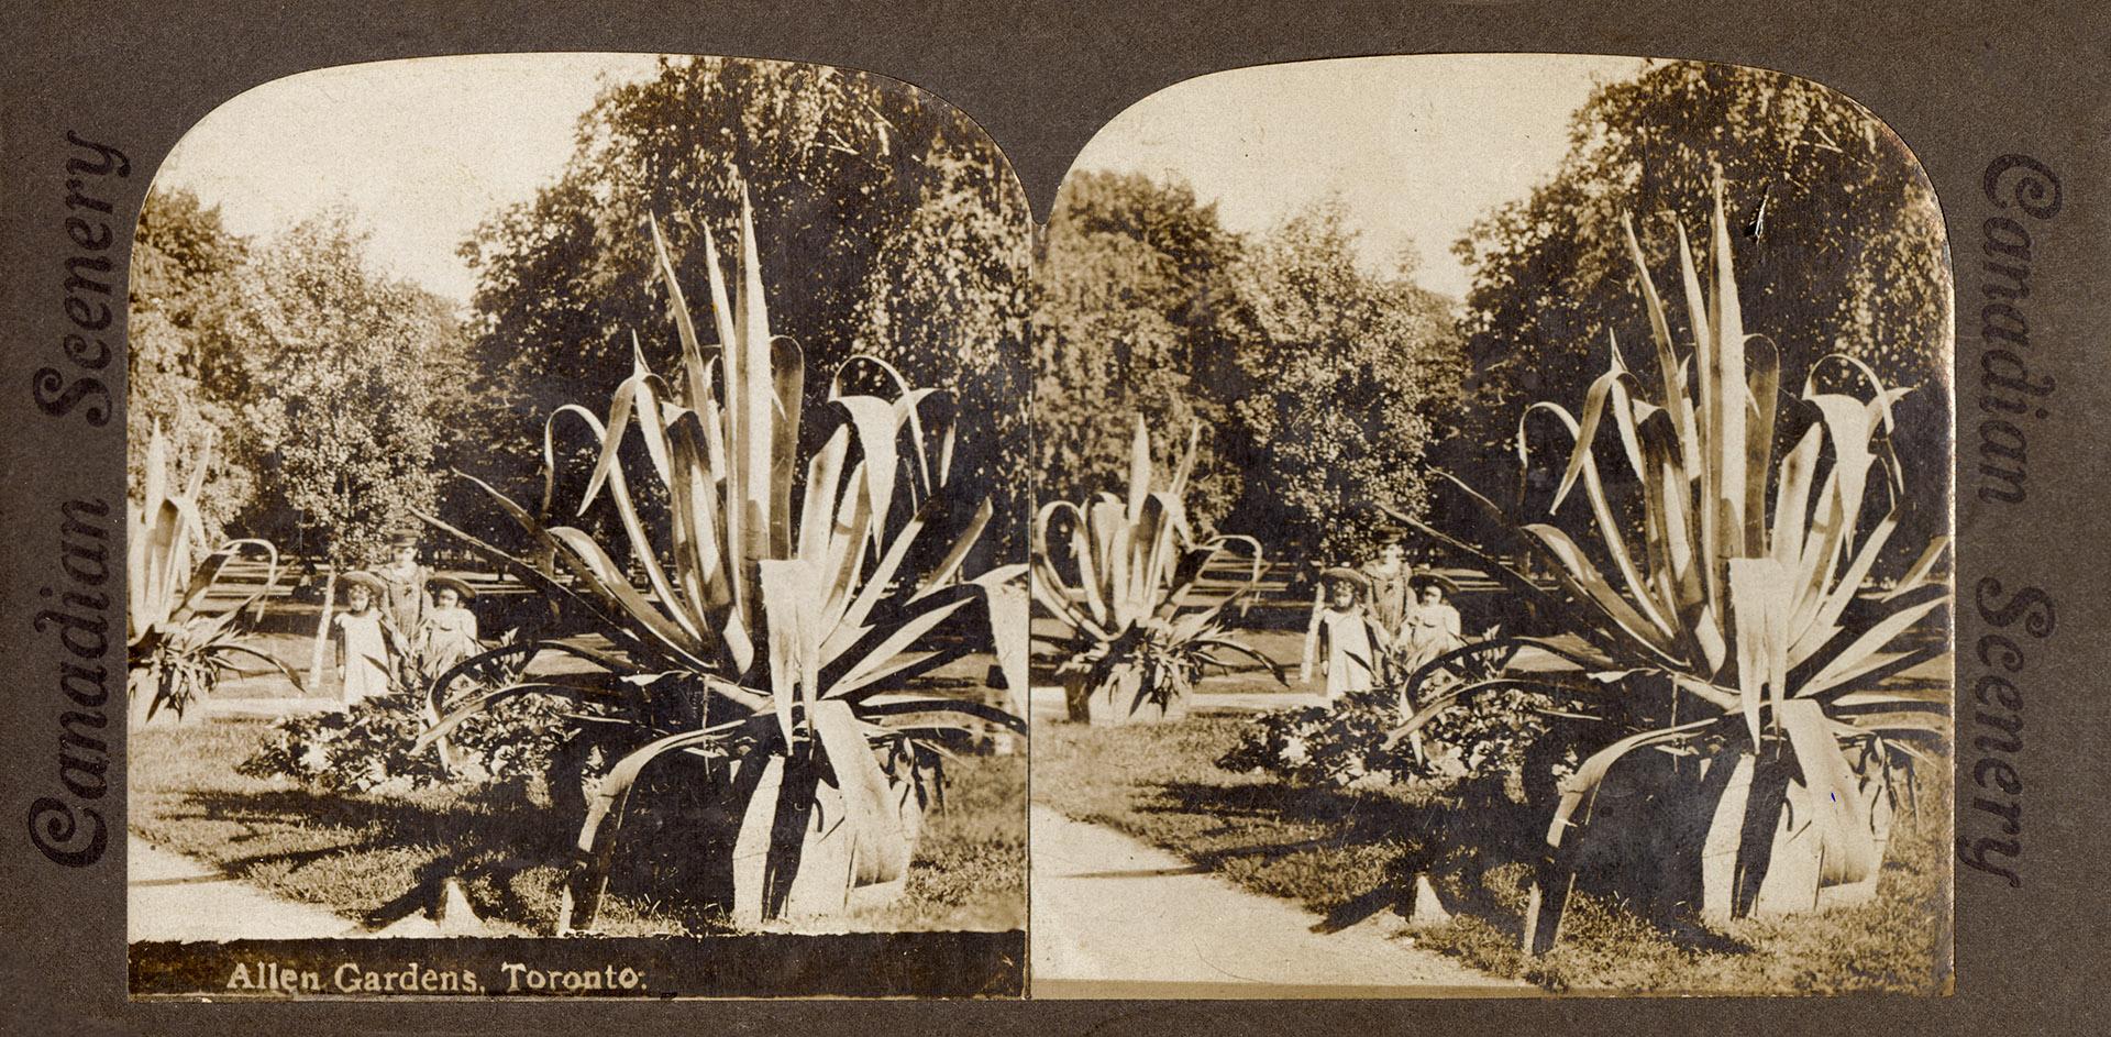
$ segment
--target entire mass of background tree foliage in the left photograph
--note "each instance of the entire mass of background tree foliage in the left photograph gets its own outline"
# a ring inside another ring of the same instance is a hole
[[[663,59],[657,76],[604,91],[562,175],[462,243],[477,277],[467,313],[376,272],[357,213],[247,241],[194,194],[152,192],[131,281],[133,422],[158,420],[186,446],[213,435],[215,534],[361,564],[416,526],[412,509],[498,532],[502,520],[441,475],[458,467],[538,501],[551,410],[604,406],[633,342],[657,370],[678,353],[650,220],[709,321],[703,237],[733,247],[743,188],[773,327],[806,353],[809,406],[851,353],[950,389],[956,477],[999,507],[986,551],[1022,543],[1024,194],[958,112],[817,65]]]

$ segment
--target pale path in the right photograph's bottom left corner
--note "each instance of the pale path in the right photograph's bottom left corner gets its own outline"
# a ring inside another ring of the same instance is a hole
[[[1032,997],[1530,995],[1366,923],[1248,893],[1110,828],[1032,807]]]

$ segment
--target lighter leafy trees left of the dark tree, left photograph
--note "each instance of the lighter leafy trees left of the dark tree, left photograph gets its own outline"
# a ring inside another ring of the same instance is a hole
[[[325,211],[264,243],[154,190],[131,277],[131,425],[160,422],[177,479],[211,444],[209,536],[270,536],[363,564],[475,444],[469,340],[445,300],[378,275],[365,232]],[[131,437],[131,482],[146,437]]]

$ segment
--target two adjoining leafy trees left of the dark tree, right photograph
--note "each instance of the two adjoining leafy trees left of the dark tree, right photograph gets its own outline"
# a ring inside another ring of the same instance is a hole
[[[1465,372],[1450,304],[1406,262],[1366,270],[1338,203],[1243,237],[1178,180],[1074,173],[1037,287],[1043,496],[1112,488],[1142,414],[1163,465],[1203,422],[1203,526],[1349,558],[1374,503],[1421,511]]]

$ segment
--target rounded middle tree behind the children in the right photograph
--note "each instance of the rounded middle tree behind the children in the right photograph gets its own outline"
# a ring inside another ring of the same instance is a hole
[[[1370,551],[1374,505],[1423,511],[1423,456],[1465,374],[1450,304],[1414,283],[1410,253],[1383,272],[1355,256],[1343,207],[1321,201],[1235,264],[1229,315],[1239,530],[1334,562]]]

